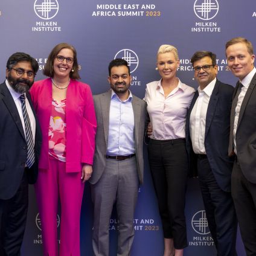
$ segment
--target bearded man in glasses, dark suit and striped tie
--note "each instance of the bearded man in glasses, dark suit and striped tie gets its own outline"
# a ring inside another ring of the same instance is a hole
[[[20,255],[28,210],[28,183],[37,179],[41,133],[28,89],[38,63],[25,53],[7,61],[0,85],[0,255]]]

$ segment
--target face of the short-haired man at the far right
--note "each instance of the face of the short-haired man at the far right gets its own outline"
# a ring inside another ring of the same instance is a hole
[[[249,54],[245,43],[235,43],[226,48],[228,67],[240,80],[254,68],[254,54]]]

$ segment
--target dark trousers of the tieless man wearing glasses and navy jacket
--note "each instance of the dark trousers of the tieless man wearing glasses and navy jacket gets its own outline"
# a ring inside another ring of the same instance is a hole
[[[237,238],[237,217],[231,193],[223,191],[214,177],[208,159],[197,158],[199,185],[208,226],[218,256],[234,256]]]

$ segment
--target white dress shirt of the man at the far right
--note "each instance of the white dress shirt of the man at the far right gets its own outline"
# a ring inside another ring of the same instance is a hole
[[[254,77],[256,73],[256,68],[252,69],[251,72],[249,72],[248,75],[246,75],[245,78],[243,78],[242,81],[240,81],[240,83],[242,83],[242,88],[241,88],[241,92],[238,95],[237,98],[237,106],[235,107],[235,118],[234,118],[234,129],[233,129],[233,138],[234,138],[234,152],[235,154],[237,153],[237,144],[235,141],[235,133],[237,132],[237,124],[238,124],[238,119],[239,119],[239,113],[240,113],[240,109],[243,103],[243,98],[245,98],[245,94],[247,92],[247,89],[251,83],[252,77]],[[256,129],[256,128],[255,128]]]

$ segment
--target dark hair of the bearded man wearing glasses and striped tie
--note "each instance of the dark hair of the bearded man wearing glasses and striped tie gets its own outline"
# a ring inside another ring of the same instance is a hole
[[[10,70],[11,68],[13,68],[13,66],[15,66],[18,62],[30,62],[31,63],[31,67],[33,69],[34,74],[36,74],[36,72],[39,69],[39,65],[37,63],[37,61],[31,57],[30,55],[28,55],[27,53],[14,53],[12,54],[9,59],[7,60],[6,63],[6,68],[8,70]]]

